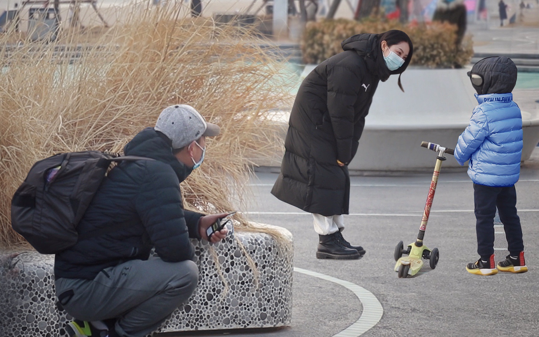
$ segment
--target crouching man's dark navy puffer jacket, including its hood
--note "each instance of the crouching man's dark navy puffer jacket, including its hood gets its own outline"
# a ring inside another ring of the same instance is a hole
[[[153,128],[144,129],[124,148],[126,155],[155,159],[121,162],[103,181],[78,225],[80,234],[121,228],[80,240],[56,255],[54,276],[93,279],[101,270],[133,259],[146,260],[150,250],[166,262],[193,257],[189,237],[199,238],[202,214],[183,210],[179,183],[191,169],[172,155],[170,141]]]

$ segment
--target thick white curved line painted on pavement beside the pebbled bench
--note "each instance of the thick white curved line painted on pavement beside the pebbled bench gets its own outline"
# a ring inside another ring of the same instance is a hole
[[[357,337],[368,331],[370,328],[374,327],[384,314],[384,309],[382,304],[378,301],[375,295],[373,295],[367,289],[358,286],[357,284],[341,280],[335,277],[331,277],[326,274],[317,273],[314,271],[301,269],[294,267],[294,271],[308,276],[314,276],[326,281],[330,281],[341,285],[347,288],[349,291],[353,292],[356,295],[357,299],[360,300],[361,305],[363,306],[363,312],[361,313],[360,318],[357,319],[352,325],[348,328],[345,328],[340,333],[332,337]]]

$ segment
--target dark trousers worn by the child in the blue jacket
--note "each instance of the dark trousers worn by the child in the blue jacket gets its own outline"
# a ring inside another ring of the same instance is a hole
[[[496,208],[506,233],[509,253],[519,256],[524,250],[520,218],[516,214],[516,190],[511,187],[490,187],[473,184],[475,204],[475,230],[477,252],[482,260],[488,261],[494,254],[494,217]]]

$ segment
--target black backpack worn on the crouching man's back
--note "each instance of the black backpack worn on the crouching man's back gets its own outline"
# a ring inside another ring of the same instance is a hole
[[[42,254],[56,254],[73,246],[82,239],[77,225],[110,163],[125,160],[153,159],[82,151],[36,162],[11,200],[13,230]]]

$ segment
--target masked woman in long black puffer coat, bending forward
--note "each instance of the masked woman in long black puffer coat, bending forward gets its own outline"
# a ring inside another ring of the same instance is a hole
[[[314,68],[299,88],[281,173],[271,192],[313,214],[320,236],[317,258],[356,259],[365,253],[363,247],[341,235],[350,195],[347,166],[378,82],[406,70],[413,46],[399,30],[354,35],[341,45],[344,52]],[[398,84],[402,90],[400,76]]]

